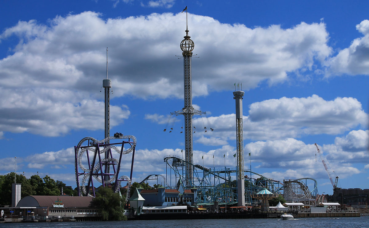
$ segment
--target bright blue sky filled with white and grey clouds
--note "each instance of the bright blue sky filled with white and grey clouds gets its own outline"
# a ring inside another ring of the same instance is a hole
[[[235,166],[234,83],[245,91],[244,146],[252,169],[312,177],[332,193],[317,143],[342,188],[368,186],[369,18],[366,2],[4,1],[0,7],[0,173],[37,172],[75,186],[73,146],[103,139],[102,79],[109,49],[111,132],[137,138],[134,178],[181,156],[180,41],[188,6],[194,162]],[[172,125],[172,123],[170,123]],[[248,167],[245,156],[245,167]],[[128,175],[130,156],[122,172]],[[332,174],[334,176],[334,174]]]

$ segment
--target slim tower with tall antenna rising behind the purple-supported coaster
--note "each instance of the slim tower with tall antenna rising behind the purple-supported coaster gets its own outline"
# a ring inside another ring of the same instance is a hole
[[[108,48],[106,48],[106,79],[103,79],[103,87],[105,89],[105,138],[110,136],[110,88],[111,79],[108,79]],[[109,140],[105,144],[109,144]],[[109,151],[105,152],[105,158],[109,158]],[[105,165],[105,173],[110,173],[109,165]],[[105,176],[104,179],[107,180],[109,176]]]

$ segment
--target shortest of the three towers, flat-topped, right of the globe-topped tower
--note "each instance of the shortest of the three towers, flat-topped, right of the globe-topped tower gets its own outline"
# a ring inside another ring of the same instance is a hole
[[[239,88],[238,88],[239,89]],[[238,206],[245,205],[245,176],[244,176],[244,130],[242,126],[242,99],[244,91],[234,91],[236,100],[236,140],[237,140],[237,195]]]

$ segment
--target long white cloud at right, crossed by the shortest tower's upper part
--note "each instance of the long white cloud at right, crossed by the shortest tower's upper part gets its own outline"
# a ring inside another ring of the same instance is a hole
[[[317,95],[282,97],[252,103],[248,112],[249,115],[243,117],[244,139],[253,140],[335,135],[368,123],[368,114],[361,103],[352,97],[337,97],[328,101]],[[199,132],[197,137],[235,139],[235,114],[202,117],[193,122],[194,125],[208,122],[214,128],[213,132]],[[206,142],[204,139],[201,141]]]

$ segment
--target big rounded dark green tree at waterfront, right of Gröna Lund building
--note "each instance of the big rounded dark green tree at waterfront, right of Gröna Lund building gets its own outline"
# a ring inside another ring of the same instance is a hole
[[[103,187],[92,199],[92,206],[100,210],[102,220],[127,220],[124,215],[124,197],[114,193],[109,187]]]

